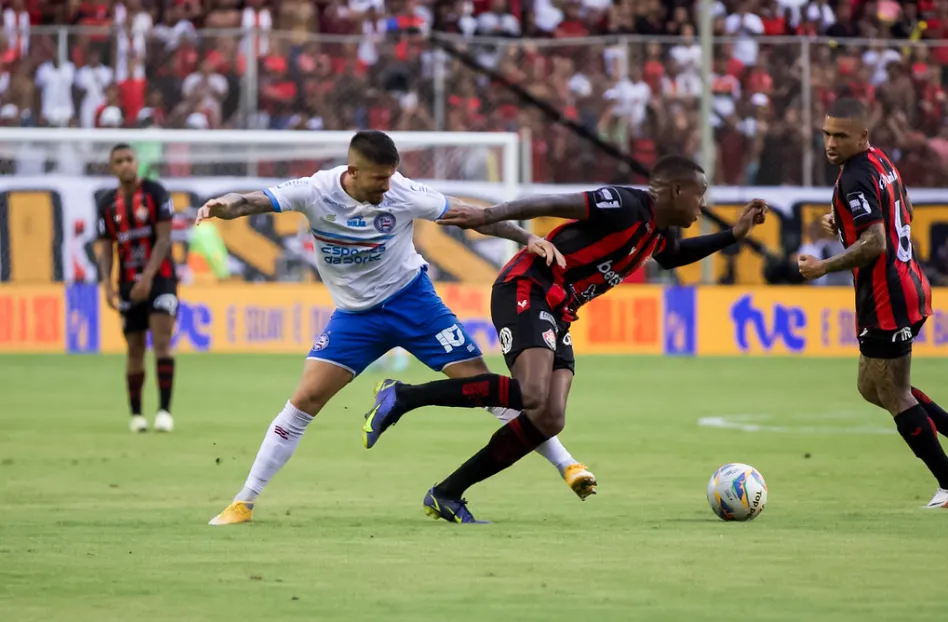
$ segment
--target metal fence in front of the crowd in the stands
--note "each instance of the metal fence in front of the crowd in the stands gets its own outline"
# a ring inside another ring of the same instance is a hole
[[[706,122],[716,183],[825,185],[835,171],[822,157],[822,119],[848,94],[871,104],[872,140],[909,185],[948,182],[946,42],[715,39],[705,120],[696,39],[432,36],[646,165],[668,152],[699,158]],[[0,75],[2,125],[520,131],[525,181],[630,179],[623,164],[408,32],[37,27],[3,45],[19,60]]]

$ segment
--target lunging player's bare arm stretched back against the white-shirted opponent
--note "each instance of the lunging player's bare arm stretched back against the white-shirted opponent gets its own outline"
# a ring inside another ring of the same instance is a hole
[[[585,219],[586,197],[582,193],[538,195],[500,203],[487,209],[465,204],[452,205],[438,219],[438,224],[476,229],[505,220],[532,220],[541,216]]]

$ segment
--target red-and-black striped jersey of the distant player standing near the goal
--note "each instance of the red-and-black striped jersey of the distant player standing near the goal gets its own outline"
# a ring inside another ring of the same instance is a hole
[[[174,205],[168,191],[151,180],[143,179],[131,194],[116,188],[102,195],[98,201],[99,239],[118,246],[120,283],[131,283],[142,273],[157,241],[155,225],[172,217]],[[170,250],[157,276],[175,276]]]

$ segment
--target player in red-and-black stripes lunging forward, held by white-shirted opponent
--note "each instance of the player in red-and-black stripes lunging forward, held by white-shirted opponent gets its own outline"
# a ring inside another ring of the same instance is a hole
[[[569,334],[579,309],[618,285],[650,257],[670,269],[693,263],[744,238],[764,221],[767,206],[752,201],[733,229],[678,240],[671,227],[690,227],[701,215],[708,182],[691,160],[670,156],[652,171],[649,189],[610,186],[578,194],[520,199],[481,210],[448,210],[439,221],[462,228],[541,216],[571,219],[548,239],[562,261],[547,265],[517,254],[491,294],[491,318],[512,377],[485,374],[423,385],[390,383],[368,418],[385,429],[420,406],[505,406],[523,412],[425,497],[426,511],[454,522],[476,522],[464,491],[506,469],[566,421],[575,363]],[[383,384],[384,386],[384,384]]]

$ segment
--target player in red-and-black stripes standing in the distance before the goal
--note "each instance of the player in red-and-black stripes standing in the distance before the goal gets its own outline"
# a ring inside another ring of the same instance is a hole
[[[128,344],[126,380],[132,412],[130,428],[145,432],[142,385],[145,382],[146,334],[150,330],[158,372],[159,410],[155,429],[170,432],[174,358],[171,336],[178,309],[178,279],[171,258],[171,219],[174,206],[165,188],[139,179],[138,158],[129,145],[112,148],[115,190],[98,204],[99,275],[108,305],[122,315]],[[118,248],[118,289],[111,281],[114,248]]]

